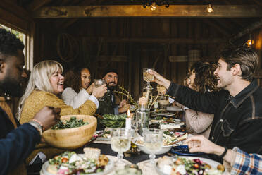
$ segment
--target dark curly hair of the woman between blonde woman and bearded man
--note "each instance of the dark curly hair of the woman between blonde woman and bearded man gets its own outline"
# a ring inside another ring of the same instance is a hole
[[[82,87],[81,71],[84,68],[85,67],[75,67],[66,72],[64,82],[65,89],[66,87],[71,87],[77,93],[80,91]]]

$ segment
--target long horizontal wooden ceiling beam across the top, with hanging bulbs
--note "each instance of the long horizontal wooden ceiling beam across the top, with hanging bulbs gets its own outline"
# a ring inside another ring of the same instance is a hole
[[[87,18],[87,17],[202,17],[246,18],[262,17],[259,6],[213,6],[207,13],[205,5],[157,6],[156,11],[134,6],[45,6],[33,13],[33,18]],[[249,13],[247,13],[247,11]]]

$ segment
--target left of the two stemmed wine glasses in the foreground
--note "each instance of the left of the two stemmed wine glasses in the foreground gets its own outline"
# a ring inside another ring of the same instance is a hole
[[[118,152],[118,163],[123,162],[123,152],[129,150],[131,145],[131,131],[127,128],[112,128],[111,149]]]

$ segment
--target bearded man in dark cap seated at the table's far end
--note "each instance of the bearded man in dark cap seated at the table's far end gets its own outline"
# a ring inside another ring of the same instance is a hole
[[[113,92],[118,85],[118,72],[114,68],[106,68],[103,76],[108,87],[108,92],[104,95],[104,101],[99,102],[99,108],[96,110],[96,113],[102,116],[104,114],[120,114],[126,112],[129,104],[127,104],[125,99],[120,101],[118,95]]]

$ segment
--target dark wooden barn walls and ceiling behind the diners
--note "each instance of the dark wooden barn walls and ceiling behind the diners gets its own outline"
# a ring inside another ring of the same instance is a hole
[[[142,68],[155,68],[182,84],[194,61],[216,61],[223,47],[246,44],[249,39],[260,56],[256,76],[262,78],[260,0],[146,3],[149,1],[1,0],[0,23],[25,33],[27,69],[54,59],[65,70],[85,65],[92,78],[101,78],[104,68],[110,66],[118,70],[118,85],[135,99],[145,85]]]

